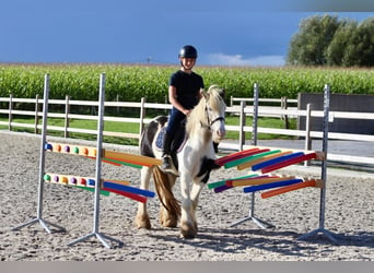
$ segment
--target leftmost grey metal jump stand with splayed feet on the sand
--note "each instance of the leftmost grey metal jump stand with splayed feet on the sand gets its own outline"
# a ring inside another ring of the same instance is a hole
[[[25,226],[32,226],[36,223],[39,223],[42,227],[48,233],[51,234],[51,229],[48,227],[54,226],[58,230],[66,230],[63,227],[52,224],[43,218],[43,193],[44,193],[44,169],[45,169],[45,150],[44,145],[46,143],[47,138],[47,116],[48,116],[48,98],[49,98],[49,74],[45,74],[44,76],[44,100],[43,100],[43,124],[42,124],[42,138],[40,138],[40,155],[39,155],[39,183],[38,183],[38,198],[37,198],[37,210],[36,210],[36,218],[26,222],[22,225],[19,225],[12,230],[19,230]]]

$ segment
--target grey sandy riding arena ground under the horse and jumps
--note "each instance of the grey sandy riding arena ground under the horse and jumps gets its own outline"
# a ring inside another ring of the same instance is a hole
[[[49,139],[56,141],[55,139]],[[90,144],[65,140],[66,143]],[[100,233],[120,240],[105,248],[95,237],[74,246],[68,244],[93,230],[94,194],[90,191],[44,183],[43,218],[66,228],[48,234],[38,223],[12,228],[37,215],[39,135],[0,131],[0,258],[1,261],[373,261],[374,177],[358,171],[327,170],[324,227],[339,236],[339,245],[326,236],[297,238],[319,227],[320,190],[306,188],[270,199],[256,194],[255,215],[274,225],[261,229],[247,221],[250,195],[235,188],[214,193],[206,188],[197,212],[199,233],[182,239],[178,228],[159,224],[159,200],[149,200],[152,229],[137,229],[137,202],[110,193],[100,199]],[[105,145],[138,154],[137,147]],[[319,167],[287,168],[289,175],[318,178]],[[46,154],[45,170],[65,175],[93,176],[95,161],[57,153]],[[247,174],[219,169],[210,182]],[[108,179],[129,180],[139,186],[140,170],[103,164]],[[154,190],[153,183],[151,190]],[[179,187],[175,187],[179,197]],[[55,230],[52,228],[52,230]],[[341,238],[340,238],[341,237]]]

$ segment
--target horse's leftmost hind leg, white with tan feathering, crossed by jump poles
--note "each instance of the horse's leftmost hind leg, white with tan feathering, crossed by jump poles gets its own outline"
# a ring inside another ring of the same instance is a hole
[[[150,186],[150,179],[152,175],[153,167],[142,167],[141,169],[141,178],[140,178],[140,188],[143,190],[148,190]],[[135,225],[137,228],[151,228],[150,216],[147,211],[147,201],[145,203],[139,202],[138,204],[138,213],[135,218]]]

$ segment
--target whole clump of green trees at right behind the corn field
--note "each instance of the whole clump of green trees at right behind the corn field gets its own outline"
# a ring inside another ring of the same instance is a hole
[[[362,23],[314,15],[290,43],[288,64],[374,67],[374,17]]]

